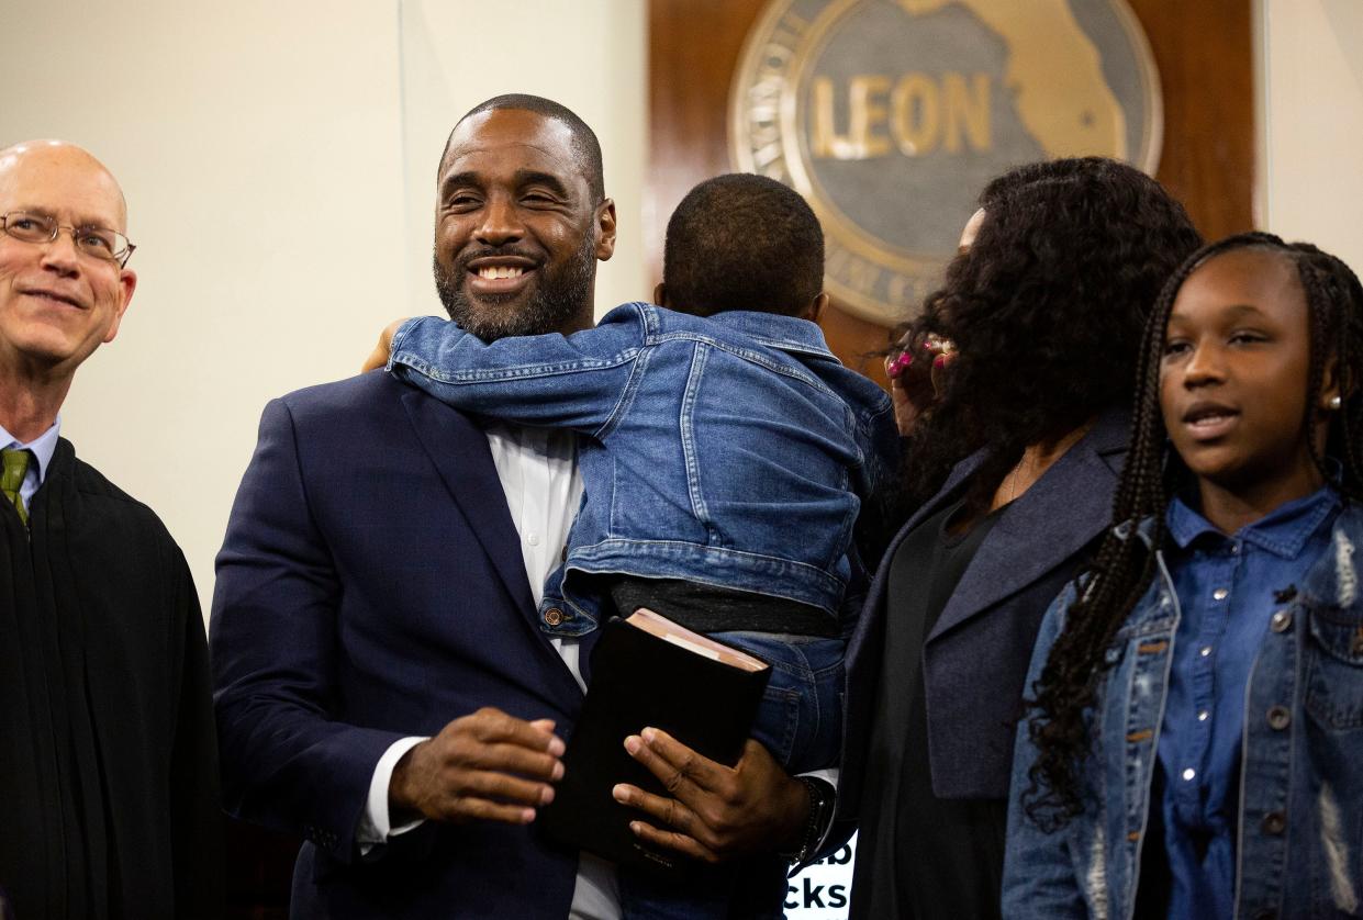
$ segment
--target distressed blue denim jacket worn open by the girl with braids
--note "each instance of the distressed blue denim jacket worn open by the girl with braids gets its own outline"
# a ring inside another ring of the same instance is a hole
[[[1236,846],[1238,917],[1358,916],[1363,895],[1363,600],[1348,504],[1302,590],[1264,634],[1246,691]],[[1063,627],[1073,587],[1041,624],[1028,687]],[[1163,557],[1107,650],[1081,767],[1084,814],[1054,834],[1021,806],[1036,748],[1018,726],[1009,800],[1005,917],[1130,917],[1141,870],[1179,602]],[[1161,841],[1152,841],[1161,845]]]

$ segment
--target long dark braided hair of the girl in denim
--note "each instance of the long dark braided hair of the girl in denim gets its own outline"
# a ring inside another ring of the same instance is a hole
[[[1150,585],[1154,549],[1164,545],[1164,512],[1187,470],[1167,447],[1160,413],[1160,358],[1174,300],[1187,277],[1209,259],[1232,249],[1262,248],[1295,264],[1310,311],[1311,354],[1307,393],[1321,393],[1325,368],[1334,358],[1340,369],[1343,405],[1333,421],[1325,454],[1340,461],[1326,465],[1311,442],[1311,458],[1325,481],[1352,500],[1363,500],[1363,288],[1347,264],[1306,243],[1284,243],[1268,233],[1243,233],[1198,249],[1169,278],[1145,327],[1135,375],[1137,405],[1131,423],[1131,450],[1114,502],[1114,527],[1099,547],[1082,581],[1084,589],[1066,612],[1066,623],[1051,649],[1040,680],[1026,701],[1028,732],[1037,761],[1024,793],[1028,816],[1054,830],[1082,810],[1078,765],[1089,750],[1084,713],[1105,671],[1104,650],[1131,608]],[[1304,431],[1321,421],[1319,399],[1307,399]],[[1135,536],[1149,522],[1150,542]]]

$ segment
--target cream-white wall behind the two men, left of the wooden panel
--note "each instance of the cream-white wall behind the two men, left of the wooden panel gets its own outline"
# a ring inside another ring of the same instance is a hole
[[[0,144],[89,147],[138,244],[63,433],[161,514],[206,611],[264,402],[440,312],[435,169],[465,110],[537,93],[593,125],[620,214],[598,311],[652,289],[639,0],[0,0]]]

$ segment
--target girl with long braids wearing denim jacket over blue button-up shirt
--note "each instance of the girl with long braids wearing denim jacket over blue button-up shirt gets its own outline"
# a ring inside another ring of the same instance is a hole
[[[1171,278],[1018,726],[1009,917],[1359,916],[1363,289],[1250,233]]]

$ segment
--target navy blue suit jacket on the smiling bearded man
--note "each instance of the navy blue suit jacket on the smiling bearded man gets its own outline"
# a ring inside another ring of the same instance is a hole
[[[534,620],[484,432],[382,372],[271,402],[213,600],[228,808],[307,837],[293,916],[567,916],[577,860],[526,827],[427,823],[361,859],[375,763],[481,706],[582,703]]]

